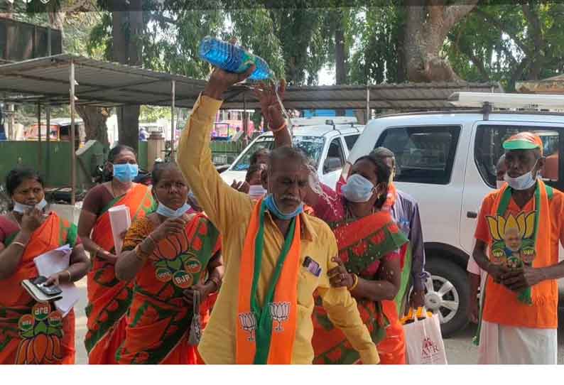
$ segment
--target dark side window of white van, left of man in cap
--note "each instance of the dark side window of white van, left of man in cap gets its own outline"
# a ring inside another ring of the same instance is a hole
[[[376,147],[396,154],[396,181],[448,185],[460,126],[386,129]]]

